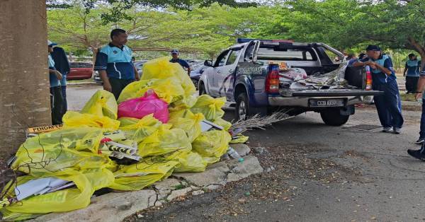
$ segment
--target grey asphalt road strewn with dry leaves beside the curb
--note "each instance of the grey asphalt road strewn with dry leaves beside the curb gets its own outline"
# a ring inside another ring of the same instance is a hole
[[[81,108],[96,88],[69,88],[70,107]],[[256,156],[275,170],[128,220],[425,221],[425,165],[406,153],[419,148],[420,112],[403,114],[399,135],[328,127],[312,112],[251,131],[249,146],[265,147]],[[357,124],[379,125],[374,108],[357,108],[344,127]]]

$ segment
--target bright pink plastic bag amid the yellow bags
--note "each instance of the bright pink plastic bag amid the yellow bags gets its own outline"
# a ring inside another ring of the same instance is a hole
[[[147,90],[143,97],[126,100],[118,105],[118,118],[142,119],[152,113],[162,123],[169,121],[168,103],[158,98],[154,90]]]

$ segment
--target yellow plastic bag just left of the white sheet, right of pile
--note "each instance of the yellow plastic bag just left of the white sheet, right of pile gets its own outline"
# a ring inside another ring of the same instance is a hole
[[[190,110],[184,110],[183,115],[174,115],[169,119],[173,129],[183,129],[189,141],[194,141],[200,135],[200,122],[205,119],[202,113],[193,114]],[[179,117],[181,116],[181,117]]]

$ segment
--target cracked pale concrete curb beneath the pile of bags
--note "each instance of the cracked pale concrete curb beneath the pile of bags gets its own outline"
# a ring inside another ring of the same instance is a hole
[[[238,146],[243,146],[244,151],[249,149],[245,144]],[[262,172],[263,168],[255,156],[245,156],[242,162],[227,160],[208,166],[202,173],[175,173],[154,183],[151,189],[104,194],[92,198],[91,204],[84,209],[46,214],[31,221],[122,221],[137,211],[161,206],[186,195],[200,195],[205,191],[218,189],[227,182],[242,180]]]

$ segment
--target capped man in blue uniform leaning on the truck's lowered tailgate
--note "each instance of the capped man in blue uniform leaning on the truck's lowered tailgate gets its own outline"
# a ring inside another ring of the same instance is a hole
[[[355,62],[353,66],[370,66],[372,71],[373,90],[383,91],[383,95],[374,97],[376,110],[382,132],[401,132],[404,119],[402,116],[402,102],[400,100],[395,70],[392,60],[387,54],[382,54],[378,45],[369,45],[366,48],[367,58]]]

